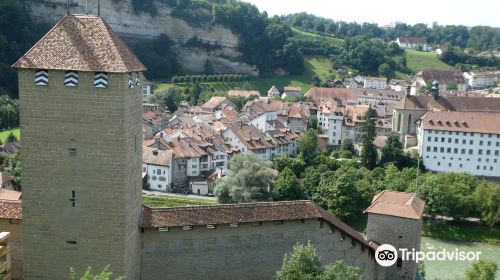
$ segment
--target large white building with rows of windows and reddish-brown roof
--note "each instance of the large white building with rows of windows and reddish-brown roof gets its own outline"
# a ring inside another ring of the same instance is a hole
[[[429,111],[417,137],[429,170],[500,176],[500,113]]]

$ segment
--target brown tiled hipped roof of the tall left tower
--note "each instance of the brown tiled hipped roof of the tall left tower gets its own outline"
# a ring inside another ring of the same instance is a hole
[[[63,17],[15,68],[126,73],[144,65],[100,16]]]

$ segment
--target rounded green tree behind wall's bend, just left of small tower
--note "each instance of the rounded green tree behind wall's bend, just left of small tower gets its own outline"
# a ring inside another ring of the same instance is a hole
[[[321,182],[315,200],[342,220],[354,216],[360,203],[355,181],[358,171],[350,166],[342,166],[335,172],[327,172],[321,177]]]

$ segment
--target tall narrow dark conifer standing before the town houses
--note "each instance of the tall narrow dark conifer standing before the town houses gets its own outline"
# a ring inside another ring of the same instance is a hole
[[[363,166],[372,170],[377,165],[377,148],[373,144],[375,140],[375,117],[376,112],[371,105],[365,114],[365,124],[363,127],[363,148],[361,150],[361,162]]]

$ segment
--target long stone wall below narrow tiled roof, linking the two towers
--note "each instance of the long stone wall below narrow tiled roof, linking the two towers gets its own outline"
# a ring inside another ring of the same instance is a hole
[[[342,238],[343,237],[343,238]],[[342,240],[343,239],[343,240]],[[297,243],[310,240],[323,265],[343,259],[360,267],[365,279],[375,279],[373,252],[326,222],[318,220],[218,225],[215,229],[145,229],[142,235],[143,280],[152,279],[273,279],[283,256]],[[354,244],[354,245],[353,245]]]

